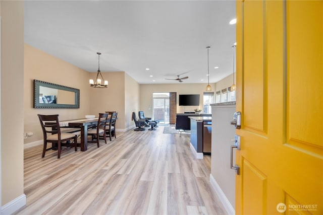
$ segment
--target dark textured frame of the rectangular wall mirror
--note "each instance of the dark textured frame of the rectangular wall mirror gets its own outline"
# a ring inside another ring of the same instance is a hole
[[[48,87],[58,90],[66,90],[75,93],[75,105],[70,104],[46,104],[39,103],[39,87]],[[63,85],[43,82],[34,79],[34,108],[80,108],[80,90],[76,88],[66,87]]]

